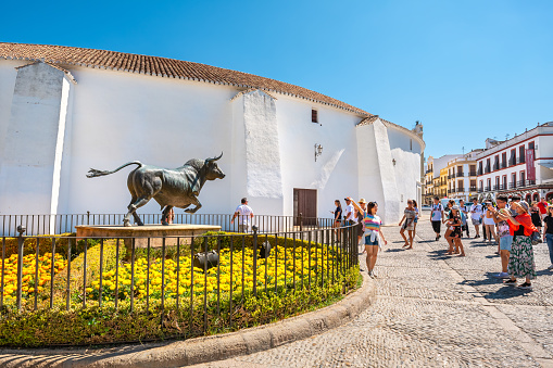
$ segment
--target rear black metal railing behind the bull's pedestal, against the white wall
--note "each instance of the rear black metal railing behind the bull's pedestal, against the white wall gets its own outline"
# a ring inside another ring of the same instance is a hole
[[[76,232],[76,226],[123,226],[123,214],[60,214],[60,215],[0,215],[0,237],[14,237],[16,227],[25,226],[27,236],[62,234]],[[143,224],[161,224],[161,214],[139,214]],[[275,232],[293,229],[300,221],[303,228],[325,228],[332,226],[332,218],[300,216],[255,215],[249,228],[256,226],[259,232]],[[131,219],[133,220],[133,219]],[[222,231],[237,232],[240,219],[232,221],[232,214],[175,214],[173,224],[214,225]],[[302,229],[303,229],[302,228]]]

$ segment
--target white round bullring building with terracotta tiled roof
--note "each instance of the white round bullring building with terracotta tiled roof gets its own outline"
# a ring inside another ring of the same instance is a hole
[[[391,224],[407,199],[420,203],[424,148],[422,126],[247,73],[0,43],[0,215],[126,213],[134,166],[88,179],[90,167],[178,167],[223,152],[226,178],[205,183],[199,213],[232,213],[248,196],[255,214],[330,217],[351,195],[377,201]]]

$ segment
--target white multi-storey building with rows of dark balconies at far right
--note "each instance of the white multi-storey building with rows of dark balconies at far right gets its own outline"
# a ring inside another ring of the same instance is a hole
[[[494,200],[498,193],[553,199],[553,122],[505,141],[488,139],[476,158],[480,200]]]

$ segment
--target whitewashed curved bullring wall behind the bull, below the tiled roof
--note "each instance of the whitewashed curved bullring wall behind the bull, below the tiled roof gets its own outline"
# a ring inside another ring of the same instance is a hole
[[[14,67],[25,64],[0,63],[0,131],[10,119],[5,109],[12,106]],[[343,204],[348,195],[380,204],[389,200],[390,207],[381,205],[381,211],[388,208],[391,223],[401,217],[399,194],[404,202],[416,195],[420,147],[413,140],[411,151],[410,135],[387,129],[381,122],[377,128],[382,152],[377,152],[372,125],[355,127],[361,116],[319,103],[125,72],[72,67],[71,73],[77,85],[63,106],[67,117],[58,213],[126,212],[130,200],[126,178],[133,167],[88,179],[90,167],[114,169],[136,160],[178,167],[189,158],[222,151],[218,164],[227,177],[205,183],[199,196],[201,213],[232,213],[240,199],[249,196],[256,214],[292,215],[293,189],[300,188],[317,190],[321,217],[331,216],[334,200]],[[312,109],[317,110],[319,124],[311,122]],[[41,127],[37,129],[40,135]],[[315,144],[324,148],[316,162]],[[393,195],[384,195],[382,188],[392,182]],[[32,201],[23,203],[23,213],[36,213],[33,206]],[[159,211],[153,200],[139,210]],[[13,211],[0,205],[0,214],[8,213]]]

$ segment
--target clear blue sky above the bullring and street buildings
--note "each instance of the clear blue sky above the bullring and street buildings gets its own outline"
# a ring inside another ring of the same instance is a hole
[[[426,156],[553,120],[553,1],[10,1],[0,40],[174,58],[328,94]]]

